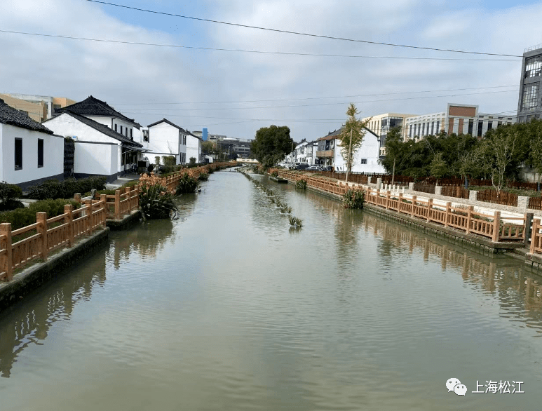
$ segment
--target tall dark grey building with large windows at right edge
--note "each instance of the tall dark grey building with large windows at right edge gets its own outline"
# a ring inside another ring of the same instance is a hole
[[[526,123],[542,114],[542,44],[525,49],[521,74],[517,119]]]

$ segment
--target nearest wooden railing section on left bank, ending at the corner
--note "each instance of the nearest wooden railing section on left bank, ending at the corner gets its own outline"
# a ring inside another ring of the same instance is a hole
[[[85,200],[81,208],[64,206],[64,213],[47,218],[36,213],[36,222],[11,230],[11,223],[0,224],[0,280],[11,281],[13,271],[37,259],[46,261],[50,252],[72,247],[76,239],[105,227],[107,198]]]

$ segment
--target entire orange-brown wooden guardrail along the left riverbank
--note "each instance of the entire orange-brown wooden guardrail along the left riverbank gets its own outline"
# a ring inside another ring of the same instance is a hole
[[[162,178],[162,184],[175,190],[184,173],[198,177],[209,169],[234,166],[235,163],[212,163],[201,167],[179,170]],[[136,184],[118,189],[113,195],[100,194],[100,199],[82,199],[76,194],[74,200],[81,208],[74,210],[65,205],[64,213],[47,218],[47,213],[36,213],[36,222],[20,229],[11,230],[11,223],[0,224],[0,281],[11,281],[13,271],[25,267],[33,260],[46,261],[50,252],[71,248],[83,236],[106,227],[107,220],[121,220],[139,209],[140,187]]]

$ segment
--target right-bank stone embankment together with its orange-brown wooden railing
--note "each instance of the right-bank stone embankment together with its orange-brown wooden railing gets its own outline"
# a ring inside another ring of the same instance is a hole
[[[542,212],[439,194],[427,194],[410,187],[367,182],[346,183],[310,173],[276,171],[289,182],[306,180],[307,188],[341,200],[347,189],[363,190],[364,207],[388,220],[395,220],[428,234],[447,238],[482,252],[508,252],[520,256],[531,267],[542,267]]]

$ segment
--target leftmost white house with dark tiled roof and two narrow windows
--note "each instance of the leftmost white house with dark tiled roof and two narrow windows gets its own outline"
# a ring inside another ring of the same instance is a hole
[[[0,100],[0,181],[22,189],[64,179],[64,138]]]

